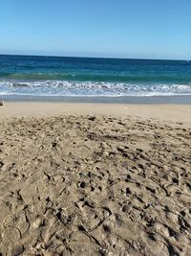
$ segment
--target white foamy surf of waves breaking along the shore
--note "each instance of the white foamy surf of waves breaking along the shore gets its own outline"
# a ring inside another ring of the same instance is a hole
[[[0,81],[0,95],[169,96],[191,95],[191,84],[136,84],[97,81]]]

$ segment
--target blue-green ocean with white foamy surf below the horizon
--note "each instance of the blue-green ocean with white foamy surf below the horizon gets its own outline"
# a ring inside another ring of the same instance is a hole
[[[0,96],[191,95],[191,61],[0,55]]]

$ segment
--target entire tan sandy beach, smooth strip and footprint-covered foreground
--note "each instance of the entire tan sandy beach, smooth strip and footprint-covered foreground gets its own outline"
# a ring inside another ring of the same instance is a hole
[[[191,255],[190,105],[30,105],[0,108],[0,255]]]

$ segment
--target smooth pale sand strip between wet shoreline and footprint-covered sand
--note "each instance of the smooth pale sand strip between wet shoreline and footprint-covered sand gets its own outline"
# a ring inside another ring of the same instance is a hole
[[[155,118],[159,121],[183,122],[191,126],[191,105],[120,105],[120,104],[64,104],[46,102],[8,102],[0,107],[0,117],[58,115],[110,115]]]

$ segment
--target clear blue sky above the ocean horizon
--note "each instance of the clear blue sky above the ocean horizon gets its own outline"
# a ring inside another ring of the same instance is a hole
[[[191,58],[191,0],[0,0],[0,54]]]

